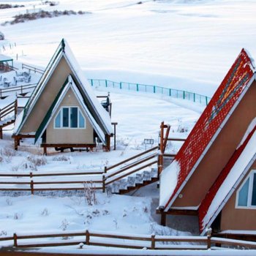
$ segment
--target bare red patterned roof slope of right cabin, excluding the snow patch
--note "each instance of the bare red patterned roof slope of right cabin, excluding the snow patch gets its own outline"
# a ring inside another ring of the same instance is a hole
[[[197,160],[203,154],[253,74],[252,61],[243,49],[175,157],[181,170],[178,174],[176,188],[170,195],[165,208],[191,173]]]

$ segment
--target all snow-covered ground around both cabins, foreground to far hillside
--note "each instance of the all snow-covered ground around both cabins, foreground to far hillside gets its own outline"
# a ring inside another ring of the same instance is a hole
[[[1,4],[23,4],[24,7],[0,10],[0,23],[12,20],[14,15],[39,10],[89,13],[0,25],[0,31],[7,38],[0,41],[1,53],[13,58],[18,56],[18,61],[44,69],[64,37],[88,78],[167,86],[210,97],[241,48],[248,48],[252,56],[256,56],[256,1],[58,2],[55,7],[49,7],[42,5],[42,1],[2,0]],[[20,62],[15,65],[20,66]],[[97,94],[106,93],[97,91]],[[117,150],[102,152],[97,148],[89,153],[64,154],[50,151],[45,157],[45,165],[38,166],[37,171],[102,170],[105,165],[145,150],[144,138],[153,138],[157,145],[161,121],[171,125],[170,137],[186,138],[203,111],[202,106],[192,102],[158,95],[124,94],[124,91],[114,90],[110,91],[110,96],[112,121],[118,122]],[[0,100],[0,108],[12,100],[11,97]],[[31,171],[33,166],[28,157],[42,158],[42,149],[38,145],[31,146],[30,140],[23,140],[19,151],[13,151],[11,135],[12,127],[7,127],[4,140],[0,141],[0,173]],[[167,149],[175,153],[180,146],[181,143],[173,143]],[[64,156],[67,160],[57,161],[56,156]],[[86,228],[118,233],[184,235],[157,224],[152,214],[155,211],[152,198],[156,199],[159,191],[155,187],[149,190],[151,192],[138,193],[140,197],[108,197],[99,192],[94,206],[86,205],[84,198],[78,195],[13,197],[13,194],[1,194],[0,237],[11,236],[14,232]],[[222,255],[225,254],[222,252]],[[235,253],[227,252],[227,255]]]

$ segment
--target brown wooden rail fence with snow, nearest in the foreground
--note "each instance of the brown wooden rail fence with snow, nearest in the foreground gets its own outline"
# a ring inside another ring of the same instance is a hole
[[[75,237],[75,238],[74,238]],[[39,241],[37,239],[39,238]],[[50,238],[50,240],[48,239]],[[55,239],[56,238],[56,239]],[[24,241],[26,240],[26,241]],[[12,241],[12,243],[7,243]],[[82,244],[81,244],[82,243]],[[45,246],[108,246],[129,249],[216,249],[215,246],[231,246],[232,249],[255,249],[251,241],[216,238],[208,236],[156,236],[110,233],[96,230],[63,231],[61,233],[14,233],[0,237],[1,246],[45,247]],[[213,246],[214,245],[214,246]]]

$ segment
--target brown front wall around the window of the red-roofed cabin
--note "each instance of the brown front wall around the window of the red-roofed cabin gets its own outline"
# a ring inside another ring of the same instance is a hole
[[[250,170],[252,169],[256,169],[256,163],[250,168]],[[247,178],[247,175],[245,178]],[[243,181],[222,209],[221,230],[256,230],[256,208],[236,208],[236,192]]]

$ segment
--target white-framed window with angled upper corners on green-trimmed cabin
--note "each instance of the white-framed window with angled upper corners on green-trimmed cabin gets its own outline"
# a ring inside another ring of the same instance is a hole
[[[86,119],[78,107],[62,107],[54,121],[54,128],[86,128]]]

